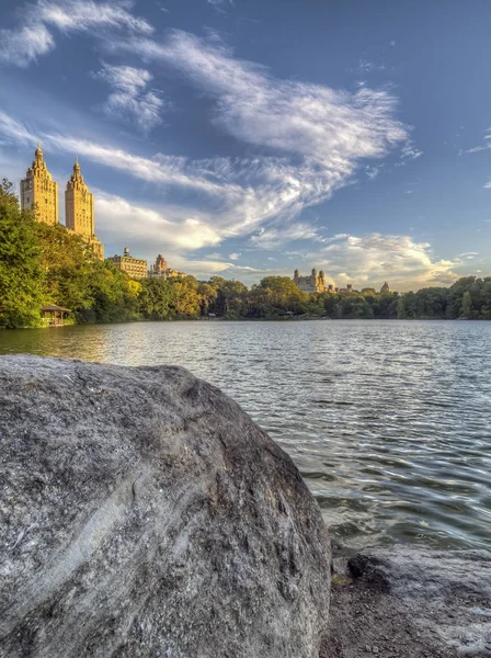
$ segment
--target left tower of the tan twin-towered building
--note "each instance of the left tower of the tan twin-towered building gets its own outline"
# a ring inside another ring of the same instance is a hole
[[[46,168],[39,143],[34,161],[21,181],[21,208],[35,208],[37,222],[58,224],[58,183]]]

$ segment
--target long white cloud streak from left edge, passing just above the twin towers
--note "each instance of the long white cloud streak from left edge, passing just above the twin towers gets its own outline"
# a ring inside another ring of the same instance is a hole
[[[76,152],[149,183],[184,188],[194,195],[206,195],[206,207],[213,212],[214,226],[228,236],[251,232],[258,225],[278,215],[284,220],[292,218],[305,205],[323,198],[316,174],[308,168],[296,168],[278,158],[193,161],[162,154],[145,158],[71,135],[42,131],[34,134],[5,114],[0,114],[0,135],[12,143],[32,145],[41,139],[46,152]],[[305,185],[309,188],[309,195],[305,195]]]

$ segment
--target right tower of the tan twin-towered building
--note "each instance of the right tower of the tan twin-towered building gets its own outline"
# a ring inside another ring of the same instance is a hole
[[[83,182],[78,160],[65,192],[65,225],[82,236],[98,258],[104,258],[104,247],[95,236],[94,195]]]

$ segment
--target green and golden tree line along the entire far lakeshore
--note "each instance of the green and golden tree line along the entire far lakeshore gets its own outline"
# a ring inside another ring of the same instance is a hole
[[[138,320],[491,319],[491,276],[399,294],[387,286],[345,293],[301,292],[287,276],[239,281],[135,281],[96,259],[64,226],[21,211],[13,185],[0,185],[0,328],[44,326],[41,308],[71,309],[66,324]]]

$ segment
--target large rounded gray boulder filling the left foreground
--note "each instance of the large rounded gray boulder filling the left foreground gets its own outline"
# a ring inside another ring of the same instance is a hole
[[[290,458],[178,367],[0,359],[0,655],[319,655],[329,542]]]

